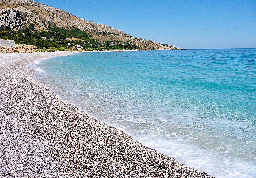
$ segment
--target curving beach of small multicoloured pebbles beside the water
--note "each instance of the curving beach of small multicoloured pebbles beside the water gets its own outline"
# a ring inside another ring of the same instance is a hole
[[[0,55],[2,177],[212,177],[61,100],[27,67],[74,53]]]

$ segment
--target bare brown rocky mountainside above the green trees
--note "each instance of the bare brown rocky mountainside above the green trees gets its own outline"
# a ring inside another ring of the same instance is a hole
[[[180,49],[156,41],[133,37],[108,25],[84,20],[64,10],[32,0],[0,0],[0,9],[0,27],[9,26],[12,30],[24,28],[30,23],[34,24],[36,30],[45,30],[48,25],[56,25],[65,29],[77,27],[88,32],[91,38],[100,41],[129,41],[130,44],[137,44],[143,50]]]

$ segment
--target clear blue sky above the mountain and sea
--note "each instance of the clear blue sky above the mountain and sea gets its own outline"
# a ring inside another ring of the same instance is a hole
[[[256,48],[256,0],[36,1],[183,49]]]

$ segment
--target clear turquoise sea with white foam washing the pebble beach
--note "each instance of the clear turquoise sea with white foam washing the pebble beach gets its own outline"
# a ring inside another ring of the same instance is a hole
[[[256,49],[86,52],[28,66],[151,149],[217,178],[256,177]]]

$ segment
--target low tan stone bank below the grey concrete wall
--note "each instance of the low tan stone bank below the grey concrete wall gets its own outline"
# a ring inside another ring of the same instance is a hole
[[[0,47],[0,53],[20,53],[20,52],[38,52],[36,46],[31,45],[16,45],[9,47]]]

